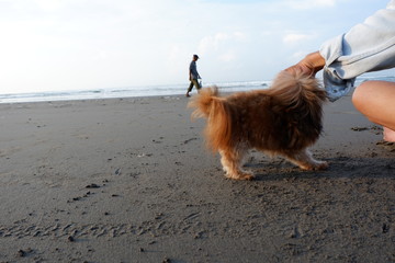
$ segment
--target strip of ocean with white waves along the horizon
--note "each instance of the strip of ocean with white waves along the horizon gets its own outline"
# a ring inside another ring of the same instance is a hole
[[[366,80],[386,80],[395,82],[395,77],[359,77],[356,85]],[[268,89],[271,81],[233,81],[233,82],[203,82],[203,87],[217,85],[221,92],[236,92]],[[94,99],[117,99],[117,98],[136,98],[136,96],[166,96],[183,95],[187,92],[189,83],[169,84],[169,85],[145,85],[113,89],[94,89],[94,90],[70,90],[70,91],[48,91],[32,93],[12,93],[1,94],[0,103],[21,103],[21,102],[49,102],[49,101],[72,101],[72,100],[94,100]],[[1,91],[0,91],[1,92]],[[195,90],[193,90],[195,92]]]

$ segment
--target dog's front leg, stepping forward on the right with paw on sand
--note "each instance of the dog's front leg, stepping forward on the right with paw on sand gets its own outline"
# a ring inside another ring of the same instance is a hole
[[[297,152],[286,152],[284,155],[292,163],[298,165],[303,170],[324,170],[328,168],[326,161],[315,160],[312,152],[307,149],[303,149]]]

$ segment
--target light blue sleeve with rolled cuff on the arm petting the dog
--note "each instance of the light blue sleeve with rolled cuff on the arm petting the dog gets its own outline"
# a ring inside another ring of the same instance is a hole
[[[348,33],[324,43],[324,85],[330,101],[346,95],[362,73],[395,67],[395,0]]]

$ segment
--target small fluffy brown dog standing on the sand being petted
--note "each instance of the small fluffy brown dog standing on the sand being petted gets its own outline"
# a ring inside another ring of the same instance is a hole
[[[271,156],[281,155],[304,170],[328,167],[315,160],[307,147],[323,129],[323,103],[326,92],[314,78],[282,71],[267,90],[218,96],[216,87],[205,88],[189,102],[192,117],[206,117],[207,146],[219,151],[226,176],[251,180],[242,160],[256,148]]]

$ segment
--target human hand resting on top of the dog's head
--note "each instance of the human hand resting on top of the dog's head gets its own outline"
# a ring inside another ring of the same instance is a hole
[[[325,66],[324,57],[318,53],[308,54],[304,59],[296,65],[285,69],[291,75],[304,75],[315,77],[315,75],[321,70]]]

